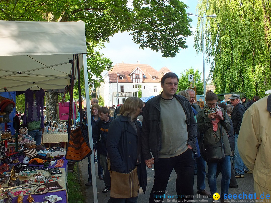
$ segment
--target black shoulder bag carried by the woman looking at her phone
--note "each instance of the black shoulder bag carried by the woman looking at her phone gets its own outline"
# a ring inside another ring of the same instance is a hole
[[[222,159],[225,158],[225,149],[222,136],[222,125],[220,125],[220,133],[221,133],[220,142],[214,145],[205,145],[203,141],[201,153],[204,161],[220,162]]]

